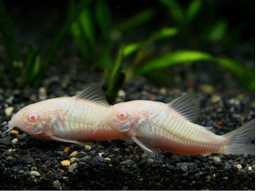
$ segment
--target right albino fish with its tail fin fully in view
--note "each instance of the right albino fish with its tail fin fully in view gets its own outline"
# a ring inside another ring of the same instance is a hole
[[[210,128],[193,123],[198,116],[197,99],[186,95],[168,104],[147,100],[118,103],[109,108],[105,121],[152,155],[157,150],[184,155],[255,153],[255,145],[250,144],[255,138],[254,119],[218,136]]]

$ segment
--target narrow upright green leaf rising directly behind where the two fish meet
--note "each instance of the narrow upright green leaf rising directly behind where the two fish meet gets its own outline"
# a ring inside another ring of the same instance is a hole
[[[118,91],[122,87],[125,80],[125,74],[121,73],[124,47],[124,45],[121,45],[113,69],[107,76],[106,97],[111,104],[115,102]]]

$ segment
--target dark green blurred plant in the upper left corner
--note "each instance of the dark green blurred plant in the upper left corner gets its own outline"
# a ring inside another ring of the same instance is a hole
[[[26,58],[25,60],[21,60],[15,29],[3,1],[0,0],[0,33],[7,59],[6,64],[0,68],[0,77],[2,80],[8,79],[14,83],[23,85],[32,85],[40,80],[47,73],[59,46],[67,32],[69,32],[71,24],[77,20],[80,12],[83,11],[87,4],[88,1],[81,1],[74,7],[74,10],[70,10],[67,13],[67,18],[62,27],[47,46],[42,46],[38,50],[35,50],[31,45],[28,45]],[[6,72],[9,75],[5,75]]]

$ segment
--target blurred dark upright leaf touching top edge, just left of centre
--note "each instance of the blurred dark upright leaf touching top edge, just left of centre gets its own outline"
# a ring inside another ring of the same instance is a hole
[[[97,22],[101,28],[102,34],[104,38],[107,39],[110,32],[110,26],[112,24],[112,15],[107,5],[107,1],[105,0],[96,1],[95,13],[96,13]]]

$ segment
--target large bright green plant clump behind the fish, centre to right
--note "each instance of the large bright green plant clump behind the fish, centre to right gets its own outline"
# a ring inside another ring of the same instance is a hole
[[[126,46],[122,47],[122,51],[119,51],[116,61],[114,61],[112,54],[115,47],[120,44],[120,41],[122,42],[120,36],[124,32],[130,32],[139,25],[150,21],[155,15],[155,9],[141,11],[121,23],[113,24],[115,23],[113,21],[114,16],[108,7],[107,1],[97,0],[88,4],[88,7],[81,11],[79,19],[72,24],[71,33],[84,63],[95,63],[97,67],[105,71],[107,97],[111,102],[114,101],[125,75],[127,80],[136,75],[151,76],[150,74],[158,69],[199,61],[220,65],[230,74],[233,74],[245,88],[254,90],[254,73],[238,61],[209,53],[181,50],[167,51],[167,53],[161,53],[156,57],[152,56],[155,53],[151,51],[151,46],[158,42],[165,45],[166,41],[162,39],[180,37],[184,36],[186,32],[190,32],[192,23],[197,19],[203,8],[201,0],[191,1],[187,9],[182,8],[176,0],[161,0],[160,2],[175,20],[176,26],[158,29],[151,32],[151,35],[145,40],[127,43]],[[208,32],[212,41],[218,41],[223,37],[225,25],[226,23],[223,20],[218,20],[213,30]],[[120,56],[120,53],[122,53],[122,56]],[[101,56],[98,56],[98,54]],[[122,62],[126,60],[129,64],[122,66]]]

